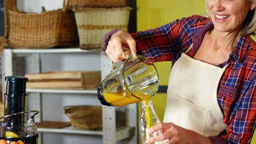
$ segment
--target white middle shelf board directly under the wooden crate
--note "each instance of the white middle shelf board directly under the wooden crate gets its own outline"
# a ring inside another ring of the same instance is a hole
[[[26,88],[27,93],[72,93],[72,94],[97,94],[97,89],[40,89],[40,88]]]

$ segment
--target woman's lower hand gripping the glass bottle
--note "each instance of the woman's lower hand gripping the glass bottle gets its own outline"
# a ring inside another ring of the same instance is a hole
[[[187,144],[189,138],[186,134],[186,130],[173,123],[159,123],[154,125],[154,127],[149,129],[149,135],[153,134],[154,131],[162,131],[162,134],[156,137],[150,137],[146,142],[154,143],[156,141],[165,141],[165,143],[176,143],[176,144]]]

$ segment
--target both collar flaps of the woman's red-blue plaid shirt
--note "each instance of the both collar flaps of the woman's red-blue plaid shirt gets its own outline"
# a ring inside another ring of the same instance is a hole
[[[193,53],[199,49],[201,45],[202,39],[205,36],[206,32],[213,29],[213,23],[211,19],[206,19],[202,22],[196,23],[194,25],[190,25],[190,31],[193,34]],[[231,57],[234,58],[239,64],[242,63],[243,58],[245,57],[245,53],[247,49],[249,49],[249,43],[252,40],[250,35],[246,35],[245,37],[241,37],[238,43],[236,44],[234,50],[231,52],[228,62],[230,62]]]

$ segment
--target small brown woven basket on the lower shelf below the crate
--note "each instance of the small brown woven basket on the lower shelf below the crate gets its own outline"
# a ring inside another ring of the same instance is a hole
[[[73,127],[86,130],[102,129],[101,106],[65,106],[63,112],[69,117]]]

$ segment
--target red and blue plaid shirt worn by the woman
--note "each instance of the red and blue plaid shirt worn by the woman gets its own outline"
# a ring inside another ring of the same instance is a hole
[[[213,23],[206,17],[193,15],[167,25],[136,32],[137,54],[153,62],[172,61],[181,57],[191,44],[187,55],[193,57],[199,49],[207,31]],[[103,40],[106,50],[110,36],[119,29],[107,33]],[[249,35],[241,37],[229,60],[217,65],[228,64],[220,79],[217,98],[223,112],[223,122],[228,125],[219,136],[211,136],[212,143],[250,143],[256,127],[256,43]]]

